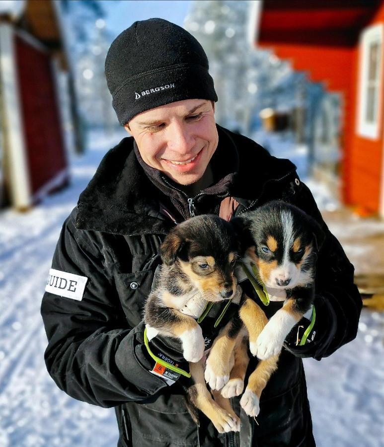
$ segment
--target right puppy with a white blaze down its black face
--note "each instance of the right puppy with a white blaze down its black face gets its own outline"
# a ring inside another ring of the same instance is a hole
[[[324,234],[303,211],[277,201],[231,222],[241,230],[243,268],[258,282],[259,296],[266,292],[270,300],[284,300],[284,304],[268,321],[260,306],[243,295],[239,308],[243,324],[230,321],[216,338],[205,377],[227,398],[242,392],[248,360],[245,327],[250,352],[260,361],[240,405],[249,416],[257,416],[261,392],[277,368],[284,340],[313,303],[315,262]]]

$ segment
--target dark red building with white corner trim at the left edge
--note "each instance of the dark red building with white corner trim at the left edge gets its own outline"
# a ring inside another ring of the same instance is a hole
[[[63,70],[68,65],[55,2],[0,10],[0,205],[27,210],[68,183],[58,86]]]

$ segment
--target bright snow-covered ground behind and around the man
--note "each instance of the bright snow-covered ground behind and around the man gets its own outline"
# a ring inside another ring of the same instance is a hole
[[[60,391],[43,359],[40,301],[61,225],[112,146],[100,136],[92,142],[73,159],[70,188],[28,213],[0,214],[0,447],[116,445],[113,410]],[[321,188],[316,194],[320,203],[331,200]],[[384,446],[384,314],[363,310],[359,328],[330,358],[305,361],[320,447]]]

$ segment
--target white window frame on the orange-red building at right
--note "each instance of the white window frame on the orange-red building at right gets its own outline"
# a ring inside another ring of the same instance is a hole
[[[359,105],[357,107],[357,130],[358,135],[370,140],[378,140],[381,131],[381,115],[382,115],[382,89],[383,89],[383,41],[384,41],[384,24],[373,25],[366,28],[361,36],[359,43]],[[368,105],[368,75],[369,75],[369,50],[373,43],[379,44],[379,67],[378,67],[378,98],[376,102],[374,123],[367,121],[367,105]]]

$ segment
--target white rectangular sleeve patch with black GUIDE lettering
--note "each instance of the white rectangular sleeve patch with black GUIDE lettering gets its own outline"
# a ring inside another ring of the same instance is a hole
[[[50,269],[45,291],[54,295],[59,295],[59,297],[81,301],[87,281],[88,278],[86,276],[79,276],[74,275],[73,273]]]

